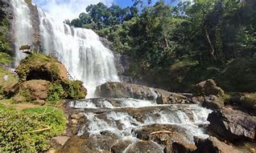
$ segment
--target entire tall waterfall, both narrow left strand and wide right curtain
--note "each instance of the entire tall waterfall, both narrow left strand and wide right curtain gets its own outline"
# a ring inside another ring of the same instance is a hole
[[[12,0],[14,6],[14,28],[16,64],[24,55],[19,46],[32,43],[30,10],[23,0]],[[93,97],[95,88],[101,83],[119,81],[114,65],[114,54],[106,48],[93,30],[70,27],[54,21],[43,10],[39,10],[40,42],[44,54],[56,54],[68,69],[72,79],[85,83],[87,97]]]

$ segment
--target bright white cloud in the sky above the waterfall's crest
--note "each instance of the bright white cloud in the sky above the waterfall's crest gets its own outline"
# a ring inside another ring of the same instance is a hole
[[[110,6],[114,0],[33,0],[37,6],[42,8],[57,21],[77,18],[81,12],[85,12],[86,6],[103,2]]]

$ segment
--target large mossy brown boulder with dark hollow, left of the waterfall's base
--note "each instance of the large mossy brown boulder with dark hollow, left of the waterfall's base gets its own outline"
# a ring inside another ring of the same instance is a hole
[[[24,58],[15,72],[19,83],[5,90],[14,101],[43,105],[60,99],[85,99],[86,89],[79,80],[68,79],[68,71],[56,58],[31,54]]]

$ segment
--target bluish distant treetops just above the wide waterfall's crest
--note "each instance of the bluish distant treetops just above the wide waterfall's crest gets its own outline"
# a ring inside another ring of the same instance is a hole
[[[105,28],[116,26],[138,15],[137,7],[121,8],[116,5],[107,7],[102,2],[87,6],[85,10],[88,14],[81,13],[79,18],[75,18],[71,22],[69,20],[64,22],[70,26],[92,28],[101,33],[101,30]],[[106,38],[109,34],[103,33],[101,36]]]

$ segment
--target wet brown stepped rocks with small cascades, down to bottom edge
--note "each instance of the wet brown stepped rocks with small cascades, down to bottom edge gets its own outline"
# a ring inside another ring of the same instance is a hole
[[[68,133],[79,136],[69,139],[62,152],[192,152],[196,147],[190,131],[204,138],[201,125],[208,124],[210,112],[196,104],[158,105],[138,99],[85,99],[66,107],[72,129]],[[80,146],[72,146],[77,141]]]

